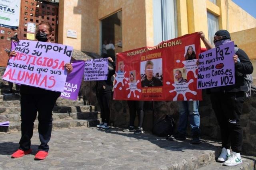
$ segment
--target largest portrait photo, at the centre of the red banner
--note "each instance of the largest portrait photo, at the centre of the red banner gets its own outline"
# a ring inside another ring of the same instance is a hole
[[[141,86],[159,87],[162,84],[162,58],[140,62]]]

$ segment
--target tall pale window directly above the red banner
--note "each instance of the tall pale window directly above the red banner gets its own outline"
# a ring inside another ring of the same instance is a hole
[[[153,0],[154,45],[178,37],[176,0]]]

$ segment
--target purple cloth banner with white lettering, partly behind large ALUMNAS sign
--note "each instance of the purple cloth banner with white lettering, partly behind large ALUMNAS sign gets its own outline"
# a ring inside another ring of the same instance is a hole
[[[67,76],[64,91],[61,93],[60,97],[77,100],[82,78],[84,76],[84,61],[73,61],[72,66],[73,70]]]

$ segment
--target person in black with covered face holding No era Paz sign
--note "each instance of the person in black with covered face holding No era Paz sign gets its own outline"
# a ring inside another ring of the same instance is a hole
[[[206,49],[211,49],[209,41],[199,32]],[[227,30],[219,30],[214,35],[214,45],[231,42],[230,33]],[[235,66],[235,84],[210,88],[212,108],[218,120],[221,131],[222,152],[218,157],[219,162],[226,166],[235,166],[242,163],[240,152],[242,151],[243,131],[240,125],[240,116],[244,104],[245,91],[248,87],[245,83],[245,75],[252,74],[253,66],[247,54],[238,49],[233,56]],[[230,154],[230,147],[232,153]]]

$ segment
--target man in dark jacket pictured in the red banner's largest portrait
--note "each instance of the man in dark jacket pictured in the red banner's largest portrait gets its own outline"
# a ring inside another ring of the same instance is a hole
[[[154,63],[151,60],[148,60],[145,64],[146,78],[141,81],[142,87],[163,86],[161,80],[153,76],[153,67]]]

